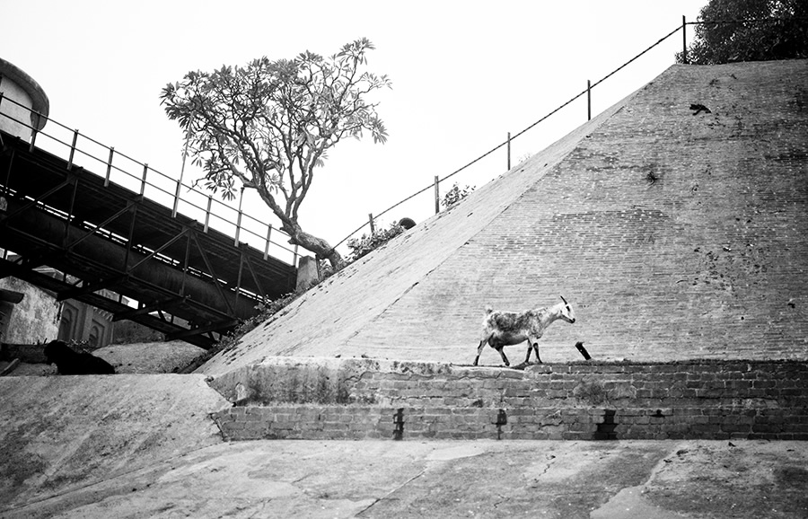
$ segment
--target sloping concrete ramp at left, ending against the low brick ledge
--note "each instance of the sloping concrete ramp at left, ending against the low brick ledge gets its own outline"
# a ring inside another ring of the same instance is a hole
[[[201,375],[0,378],[0,511],[222,441]]]

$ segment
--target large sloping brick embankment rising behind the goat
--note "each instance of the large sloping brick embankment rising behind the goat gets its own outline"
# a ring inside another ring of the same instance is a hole
[[[200,371],[265,356],[471,362],[487,304],[558,294],[578,321],[547,330],[545,362],[575,360],[578,340],[597,360],[804,360],[806,84],[808,60],[672,66]]]

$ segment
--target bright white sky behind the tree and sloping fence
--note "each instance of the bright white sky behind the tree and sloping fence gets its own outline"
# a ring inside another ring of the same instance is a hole
[[[182,138],[160,106],[165,84],[189,70],[329,56],[366,37],[369,70],[389,75],[377,96],[386,145],[344,141],[317,171],[301,209],[303,229],[332,244],[400,199],[499,145],[681,25],[707,0],[208,2],[0,0],[0,57],[45,90],[50,117],[170,175]],[[688,40],[693,28],[688,27]],[[593,116],[674,62],[681,32],[593,90]],[[584,123],[586,101],[512,144],[515,165]],[[45,131],[54,130],[48,124]],[[39,142],[39,141],[38,141]],[[84,164],[82,164],[84,165]],[[480,186],[505,172],[505,150],[455,175]],[[103,173],[102,166],[87,169]],[[198,171],[186,169],[185,178]],[[431,191],[382,216],[417,222],[434,213]],[[251,216],[272,218],[260,202]],[[365,228],[365,231],[367,229]],[[346,251],[340,249],[343,253]]]

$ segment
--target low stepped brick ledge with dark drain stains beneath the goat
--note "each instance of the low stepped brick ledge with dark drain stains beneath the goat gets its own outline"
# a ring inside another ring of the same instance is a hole
[[[518,371],[286,358],[212,385],[238,404],[214,415],[231,440],[808,440],[808,363],[796,361],[581,363]]]

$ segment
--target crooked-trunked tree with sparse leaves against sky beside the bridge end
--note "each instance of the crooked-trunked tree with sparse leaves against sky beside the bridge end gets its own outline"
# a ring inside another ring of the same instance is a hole
[[[360,71],[371,49],[362,39],[329,58],[307,50],[291,60],[261,57],[243,67],[189,72],[161,94],[169,119],[185,133],[189,155],[205,172],[206,188],[225,199],[239,188],[256,189],[289,242],[335,268],[339,253],[305,233],[298,215],[329,148],[364,131],[375,143],[387,140],[378,102],[365,98],[390,87],[390,80]]]

